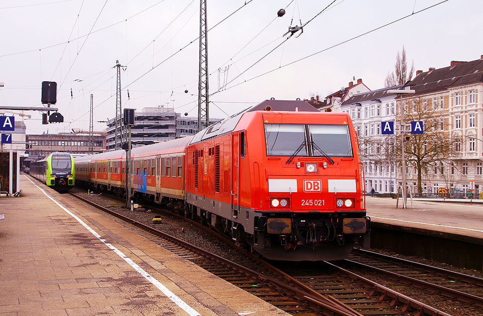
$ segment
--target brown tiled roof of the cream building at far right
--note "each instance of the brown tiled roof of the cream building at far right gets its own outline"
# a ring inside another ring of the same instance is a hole
[[[410,83],[411,89],[416,90],[418,95],[483,82],[483,59],[452,61],[451,64],[452,66],[439,69],[430,68],[427,72],[418,71],[418,75]]]

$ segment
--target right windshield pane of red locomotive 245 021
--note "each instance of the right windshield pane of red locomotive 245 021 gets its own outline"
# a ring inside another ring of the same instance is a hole
[[[312,137],[312,155],[323,156],[317,148],[323,150],[328,156],[351,157],[352,146],[350,145],[349,128],[347,125],[309,125]]]

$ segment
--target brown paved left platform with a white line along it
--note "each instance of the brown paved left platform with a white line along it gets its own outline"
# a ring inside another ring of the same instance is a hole
[[[1,316],[288,315],[35,184],[46,195],[21,176],[23,197],[0,198]]]

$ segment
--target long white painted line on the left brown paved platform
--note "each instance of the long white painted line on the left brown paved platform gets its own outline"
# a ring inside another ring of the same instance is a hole
[[[116,247],[112,246],[111,244],[107,243],[105,239],[101,239],[100,235],[97,234],[92,228],[90,228],[87,224],[85,224],[80,218],[78,218],[76,215],[74,215],[72,212],[67,210],[65,207],[63,207],[59,202],[54,200],[51,196],[49,196],[42,188],[37,186],[32,180],[30,180],[27,176],[24,175],[27,180],[29,180],[34,186],[36,186],[42,193],[51,199],[55,204],[57,204],[61,209],[63,209],[67,214],[72,216],[79,222],[82,226],[84,226],[92,235],[97,237],[103,244],[105,244],[109,249],[112,249],[119,257],[123,258],[127,263],[129,263],[136,271],[139,272],[144,278],[146,278],[148,281],[150,281],[154,286],[156,286],[160,291],[162,291],[169,299],[171,299],[176,305],[181,307],[184,311],[186,311],[190,316],[201,316],[199,312],[197,312],[193,307],[188,305],[185,301],[183,301],[181,298],[176,296],[173,292],[171,292],[166,286],[164,286],[160,281],[155,279],[153,276],[151,276],[148,272],[146,272],[143,268],[141,268],[139,265],[137,265],[133,260],[128,258],[122,251],[117,249]]]

